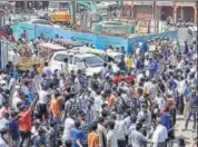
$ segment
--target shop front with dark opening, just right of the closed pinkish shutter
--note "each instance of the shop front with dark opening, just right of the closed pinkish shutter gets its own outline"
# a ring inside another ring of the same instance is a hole
[[[157,1],[156,19],[167,20],[168,18],[174,18],[174,1]]]

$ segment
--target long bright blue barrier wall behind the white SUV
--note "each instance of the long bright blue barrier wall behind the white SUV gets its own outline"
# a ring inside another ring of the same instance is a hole
[[[70,39],[71,37],[76,38],[79,42],[89,42],[95,45],[96,48],[103,50],[107,46],[111,45],[112,47],[125,47],[127,52],[131,52],[132,47],[137,42],[143,43],[143,50],[146,50],[146,42],[155,37],[169,37],[177,38],[177,31],[168,31],[158,35],[147,35],[139,36],[135,38],[122,38],[122,37],[112,37],[112,36],[102,36],[93,33],[77,32],[70,30],[63,30],[61,28],[47,27],[47,26],[36,26],[27,22],[21,22],[18,24],[16,31],[16,37],[20,38],[20,35],[27,31],[28,39],[36,39],[37,37],[43,35],[44,37],[52,39],[56,35],[59,37]]]

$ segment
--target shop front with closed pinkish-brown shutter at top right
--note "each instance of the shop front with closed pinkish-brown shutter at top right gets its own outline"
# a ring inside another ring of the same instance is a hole
[[[147,20],[152,19],[154,1],[133,1],[133,18]]]

